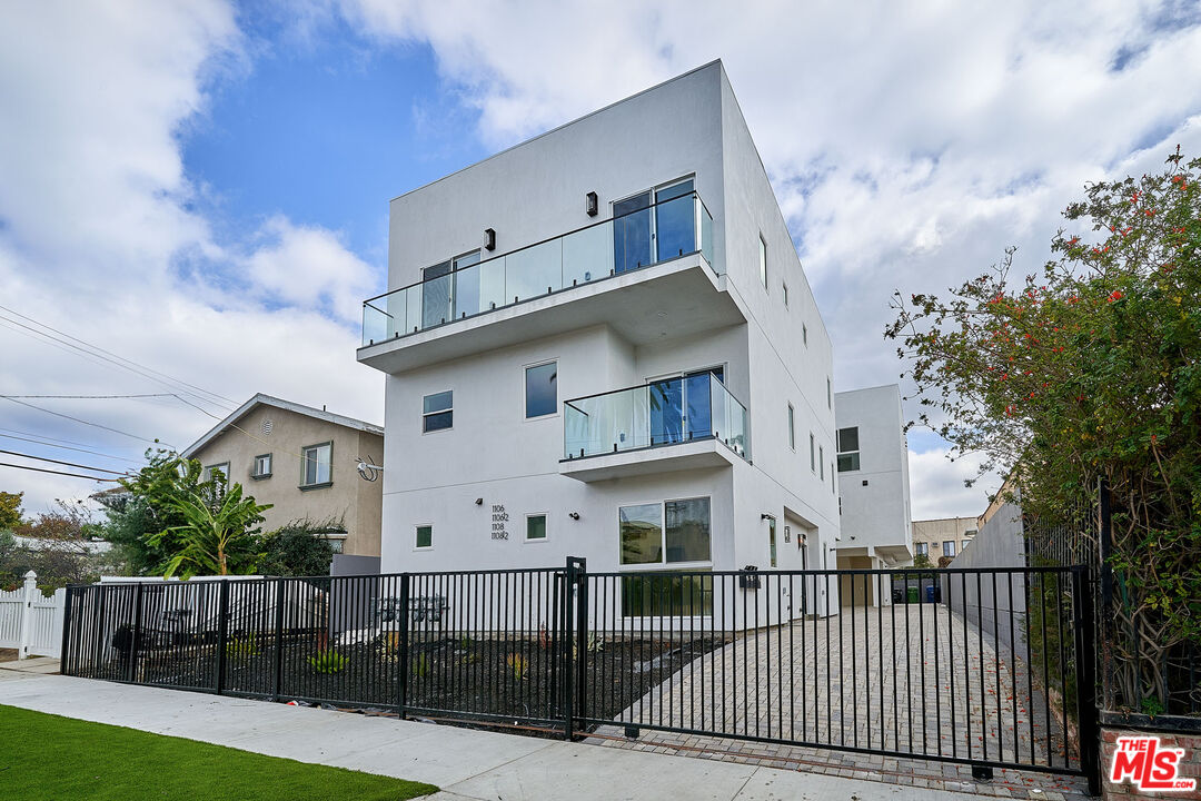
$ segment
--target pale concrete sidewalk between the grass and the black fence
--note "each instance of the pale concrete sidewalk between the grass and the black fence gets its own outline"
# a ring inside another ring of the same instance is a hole
[[[0,704],[436,784],[432,799],[843,799],[966,794],[599,748],[267,701],[46,675],[0,663]]]

